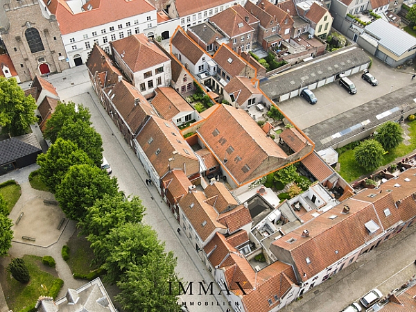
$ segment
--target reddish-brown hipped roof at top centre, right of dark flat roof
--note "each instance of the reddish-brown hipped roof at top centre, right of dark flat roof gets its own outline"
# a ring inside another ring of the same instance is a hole
[[[244,17],[234,10],[234,6],[219,12],[211,17],[209,21],[230,38],[254,32],[254,29],[245,21]]]

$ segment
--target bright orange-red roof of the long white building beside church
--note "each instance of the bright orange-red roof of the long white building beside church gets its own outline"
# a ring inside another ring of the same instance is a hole
[[[93,9],[74,14],[64,0],[44,0],[45,6],[56,16],[62,35],[83,31],[127,17],[135,17],[156,10],[146,0],[94,0]],[[90,3],[89,2],[89,3]]]

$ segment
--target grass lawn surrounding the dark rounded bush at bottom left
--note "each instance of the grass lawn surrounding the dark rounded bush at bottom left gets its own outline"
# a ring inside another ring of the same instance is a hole
[[[31,280],[28,284],[21,284],[12,278],[10,274],[6,276],[8,285],[4,295],[8,298],[6,301],[9,309],[12,311],[20,311],[25,306],[35,303],[40,295],[48,295],[48,291],[46,290],[49,290],[53,285],[53,281],[57,279],[50,273],[40,269],[44,266],[42,264],[42,257],[26,254],[23,259],[31,275]],[[44,285],[46,290],[41,285]]]

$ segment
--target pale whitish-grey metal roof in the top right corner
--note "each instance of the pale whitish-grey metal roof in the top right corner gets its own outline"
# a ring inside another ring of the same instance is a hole
[[[381,46],[400,56],[416,46],[416,38],[393,26],[388,21],[377,19],[364,28],[366,33],[378,38]]]

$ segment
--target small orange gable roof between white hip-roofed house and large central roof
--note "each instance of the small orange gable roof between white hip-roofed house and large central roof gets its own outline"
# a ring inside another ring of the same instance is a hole
[[[168,121],[171,121],[180,112],[193,112],[191,105],[171,87],[157,87],[152,105],[159,116]]]

